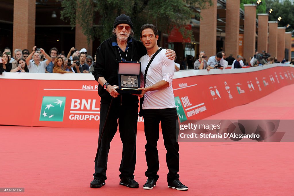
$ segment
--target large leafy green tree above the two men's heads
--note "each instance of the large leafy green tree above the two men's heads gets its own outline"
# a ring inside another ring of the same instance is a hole
[[[77,22],[88,42],[95,37],[100,41],[110,37],[113,21],[121,14],[132,18],[137,39],[140,27],[145,23],[152,23],[164,32],[176,25],[187,37],[192,35],[192,31],[186,30],[183,24],[189,23],[191,16],[195,15],[194,6],[204,9],[211,5],[212,0],[63,0],[61,19],[69,21],[72,28]],[[93,24],[94,16],[98,16],[98,24]]]

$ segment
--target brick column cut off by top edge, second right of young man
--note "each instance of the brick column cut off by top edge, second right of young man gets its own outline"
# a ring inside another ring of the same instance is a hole
[[[225,52],[227,56],[239,54],[240,0],[227,0],[225,23]]]

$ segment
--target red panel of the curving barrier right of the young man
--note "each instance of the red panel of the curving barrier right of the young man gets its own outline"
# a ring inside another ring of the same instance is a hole
[[[239,74],[174,79],[178,117],[180,120],[204,119],[232,107],[247,104],[283,86],[293,84],[293,72],[293,67],[273,67]]]

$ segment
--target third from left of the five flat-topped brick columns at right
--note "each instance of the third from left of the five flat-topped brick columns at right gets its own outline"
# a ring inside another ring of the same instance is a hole
[[[268,53],[271,57],[277,57],[278,51],[278,22],[268,21]]]

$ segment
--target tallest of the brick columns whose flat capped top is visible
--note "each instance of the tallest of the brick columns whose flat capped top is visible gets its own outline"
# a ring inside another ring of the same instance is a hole
[[[249,59],[255,52],[256,5],[244,4],[244,58]]]

